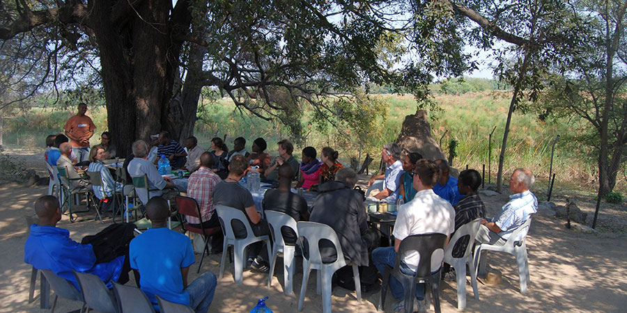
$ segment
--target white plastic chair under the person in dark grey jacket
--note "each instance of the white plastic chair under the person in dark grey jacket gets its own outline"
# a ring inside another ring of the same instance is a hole
[[[339,239],[335,230],[328,225],[314,222],[298,222],[296,223],[300,241],[300,247],[303,249],[303,255],[305,254],[302,238],[307,240],[309,246],[309,259],[303,256],[302,259],[302,287],[300,288],[300,298],[298,299],[298,312],[302,311],[304,305],[304,296],[307,291],[307,281],[309,280],[309,273],[315,269],[318,271],[316,280],[316,294],[320,294],[322,289],[323,296],[323,312],[331,312],[331,278],[335,271],[339,270],[343,266],[346,266],[346,260],[344,259],[344,253],[340,246]],[[318,243],[320,240],[326,239],[331,241],[335,246],[337,253],[337,259],[333,263],[323,263],[320,256],[320,248]],[[357,301],[362,302],[362,287],[359,282],[359,269],[356,264],[353,265],[353,277],[355,278],[355,291],[357,291]]]

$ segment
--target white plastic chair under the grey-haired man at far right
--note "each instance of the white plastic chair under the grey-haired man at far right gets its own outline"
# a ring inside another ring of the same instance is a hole
[[[527,283],[529,282],[529,261],[527,260],[527,244],[525,243],[527,235],[522,240],[516,241],[516,237],[523,230],[527,232],[531,225],[531,217],[527,218],[525,223],[514,230],[504,245],[490,245],[488,243],[478,243],[474,248],[474,266],[475,271],[486,273],[486,255],[481,255],[481,251],[497,251],[509,253],[516,257],[518,263],[518,276],[520,278],[520,294],[527,294]]]

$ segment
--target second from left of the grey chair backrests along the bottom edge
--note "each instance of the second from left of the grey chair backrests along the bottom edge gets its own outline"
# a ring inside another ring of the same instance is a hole
[[[118,304],[100,278],[93,274],[74,272],[87,306],[102,313],[118,312]]]

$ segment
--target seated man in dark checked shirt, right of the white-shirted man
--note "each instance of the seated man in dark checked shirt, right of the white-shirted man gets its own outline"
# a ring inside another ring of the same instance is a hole
[[[462,198],[453,206],[453,209],[455,209],[455,231],[453,234],[462,225],[470,223],[477,218],[486,217],[486,206],[479,198],[479,194],[477,194],[479,186],[481,186],[481,175],[477,170],[463,170],[459,173],[457,188]],[[452,253],[453,257],[464,256],[468,241],[467,237],[463,237],[455,243]],[[450,271],[450,268],[449,264],[444,263],[444,266],[442,266],[442,278],[454,281],[456,280],[456,275],[454,271]]]

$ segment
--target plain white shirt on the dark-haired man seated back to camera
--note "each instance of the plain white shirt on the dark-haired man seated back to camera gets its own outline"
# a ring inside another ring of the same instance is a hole
[[[433,189],[418,191],[415,197],[398,207],[394,238],[403,240],[413,234],[439,233],[449,236],[455,230],[455,209],[447,201],[433,192]],[[442,264],[444,250],[435,250],[431,255],[431,271],[438,271]],[[403,257],[403,262],[412,271],[416,271],[419,255],[410,251]]]

